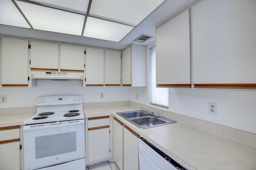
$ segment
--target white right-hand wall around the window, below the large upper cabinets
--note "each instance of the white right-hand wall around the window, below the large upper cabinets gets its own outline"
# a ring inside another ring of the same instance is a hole
[[[148,46],[148,64],[149,47],[152,46]],[[146,88],[132,88],[130,101],[150,105],[149,82]],[[209,102],[217,103],[217,115],[208,113]],[[255,107],[255,90],[169,89],[168,111],[251,133],[256,133]]]

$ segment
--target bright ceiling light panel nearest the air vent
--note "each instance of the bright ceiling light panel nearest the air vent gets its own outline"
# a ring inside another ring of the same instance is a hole
[[[120,23],[87,17],[83,36],[119,42],[133,28]]]

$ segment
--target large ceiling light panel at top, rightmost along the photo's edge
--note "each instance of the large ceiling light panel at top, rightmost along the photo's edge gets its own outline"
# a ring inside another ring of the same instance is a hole
[[[136,26],[164,0],[92,0],[89,15]]]

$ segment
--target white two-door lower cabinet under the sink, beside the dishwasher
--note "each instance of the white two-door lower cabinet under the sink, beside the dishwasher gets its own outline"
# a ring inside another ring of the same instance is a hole
[[[136,132],[114,117],[113,156],[120,170],[139,170],[138,137]]]

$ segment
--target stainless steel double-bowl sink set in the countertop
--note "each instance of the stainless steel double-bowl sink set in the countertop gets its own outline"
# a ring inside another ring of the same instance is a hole
[[[140,129],[146,129],[150,127],[156,127],[160,125],[167,125],[170,123],[176,123],[171,119],[167,119],[165,117],[152,117],[147,114],[147,111],[144,110],[137,110],[137,111],[127,111],[127,112],[119,112],[116,113],[132,123],[133,125],[137,126]]]

